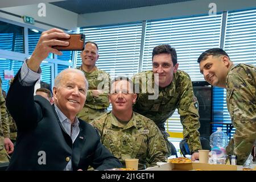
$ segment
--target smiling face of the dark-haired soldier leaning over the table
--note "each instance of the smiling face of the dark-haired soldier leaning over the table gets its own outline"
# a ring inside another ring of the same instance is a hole
[[[159,86],[164,88],[171,84],[179,64],[174,66],[171,55],[168,53],[161,53],[153,57],[152,67],[153,72],[159,74]]]

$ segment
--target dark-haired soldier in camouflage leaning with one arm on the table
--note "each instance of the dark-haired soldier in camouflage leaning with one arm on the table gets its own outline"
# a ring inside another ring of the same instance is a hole
[[[177,70],[178,65],[174,48],[168,44],[156,46],[152,52],[152,71],[133,76],[135,93],[139,92],[133,109],[156,123],[166,140],[169,156],[171,144],[164,123],[178,109],[183,136],[191,151],[191,159],[195,160],[199,159],[198,150],[201,149],[198,102],[191,79],[187,73]]]

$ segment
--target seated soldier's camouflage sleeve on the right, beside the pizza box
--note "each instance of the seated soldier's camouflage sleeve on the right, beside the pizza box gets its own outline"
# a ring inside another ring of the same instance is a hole
[[[166,162],[168,153],[166,142],[155,124],[151,126],[147,153],[147,163],[150,167],[156,166],[156,162]]]

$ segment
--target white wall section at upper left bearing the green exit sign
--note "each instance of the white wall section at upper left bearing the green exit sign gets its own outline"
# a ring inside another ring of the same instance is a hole
[[[6,0],[6,1],[8,1],[8,0]],[[77,31],[77,14],[76,13],[61,9],[60,7],[57,7],[57,6],[48,4],[48,3],[45,3],[45,4],[46,4],[46,16],[45,17],[38,16],[38,11],[40,9],[38,7],[38,4],[26,5],[26,6],[16,6],[16,7],[5,7],[5,8],[1,8],[0,10],[7,11],[9,13],[13,13],[15,15],[20,15],[20,16],[23,16],[23,15],[31,16],[35,20],[50,24],[48,26],[48,25],[45,25],[42,23],[35,23],[34,24],[35,27],[39,27],[39,28],[48,30],[49,28],[57,26],[57,27],[64,28],[67,30]],[[13,21],[19,22],[19,23],[24,23],[22,18],[13,16],[13,15],[9,15],[6,13],[2,13],[2,12],[0,12],[0,18],[13,20]]]

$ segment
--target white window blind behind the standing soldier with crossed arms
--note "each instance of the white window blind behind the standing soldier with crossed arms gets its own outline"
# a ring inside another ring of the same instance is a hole
[[[98,68],[111,77],[131,77],[138,72],[141,48],[142,23],[117,24],[113,26],[80,28],[86,41],[96,42],[99,47]],[[76,67],[82,63],[77,54]]]

